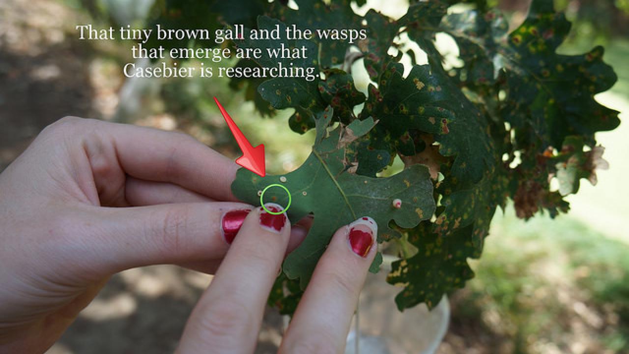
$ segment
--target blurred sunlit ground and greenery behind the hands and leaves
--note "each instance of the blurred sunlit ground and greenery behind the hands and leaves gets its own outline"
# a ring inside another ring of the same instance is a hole
[[[314,137],[291,132],[290,112],[262,119],[242,93],[218,78],[125,80],[121,67],[130,60],[128,43],[77,40],[75,25],[142,23],[151,3],[0,2],[0,171],[43,127],[65,115],[181,130],[238,157],[213,96],[252,144],[264,142],[270,173],[291,171],[304,161]],[[506,11],[512,26],[528,6],[516,0],[489,3]],[[556,5],[575,21],[560,52],[604,45],[604,58],[619,81],[597,99],[621,111],[623,120],[629,112],[629,1]],[[408,3],[374,0],[367,6],[401,16]],[[366,84],[357,79],[357,87]],[[568,215],[524,222],[511,207],[496,215],[482,260],[472,261],[477,277],[450,298],[450,329],[438,353],[629,353],[627,136],[625,123],[597,135],[611,167],[599,171],[597,186],[581,183],[569,198]],[[205,275],[170,266],[116,275],[50,353],[172,352],[208,282]],[[280,323],[267,316],[260,353],[276,350]]]

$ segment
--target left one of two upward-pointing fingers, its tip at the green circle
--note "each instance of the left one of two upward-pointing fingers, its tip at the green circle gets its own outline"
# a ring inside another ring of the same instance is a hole
[[[267,204],[281,211],[277,204]],[[277,276],[290,223],[286,214],[253,210],[208,289],[192,311],[179,353],[252,353],[270,288]]]

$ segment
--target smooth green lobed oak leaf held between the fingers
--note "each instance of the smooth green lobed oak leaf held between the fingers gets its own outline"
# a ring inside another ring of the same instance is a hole
[[[315,220],[303,243],[284,261],[284,272],[291,279],[299,278],[301,288],[308,283],[333,233],[341,226],[363,216],[370,216],[379,226],[379,241],[399,237],[391,227],[414,227],[421,220],[430,219],[435,210],[433,186],[428,168],[411,166],[389,178],[370,178],[350,172],[347,146],[374,126],[371,118],[355,120],[328,131],[333,110],[328,107],[316,118],[317,136],[312,154],[306,162],[284,176],[261,178],[239,169],[232,184],[234,195],[252,204],[259,203],[258,192],[272,183],[282,183],[291,192],[289,219],[297,222],[308,214]],[[351,157],[351,156],[350,156]],[[282,178],[282,180],[284,180]],[[286,205],[286,192],[270,188],[265,202]],[[393,200],[402,201],[394,208]]]

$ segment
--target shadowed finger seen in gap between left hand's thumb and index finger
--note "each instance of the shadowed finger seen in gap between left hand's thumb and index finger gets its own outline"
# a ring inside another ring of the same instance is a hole
[[[182,186],[168,182],[138,180],[128,177],[125,183],[126,201],[134,207],[168,203],[209,203],[214,200]]]

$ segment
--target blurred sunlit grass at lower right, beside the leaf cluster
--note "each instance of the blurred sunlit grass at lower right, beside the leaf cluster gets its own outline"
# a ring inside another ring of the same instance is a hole
[[[629,350],[629,246],[574,218],[496,215],[460,316],[511,340],[517,352],[552,343]],[[598,351],[590,351],[598,352]],[[602,351],[601,351],[602,352]]]

